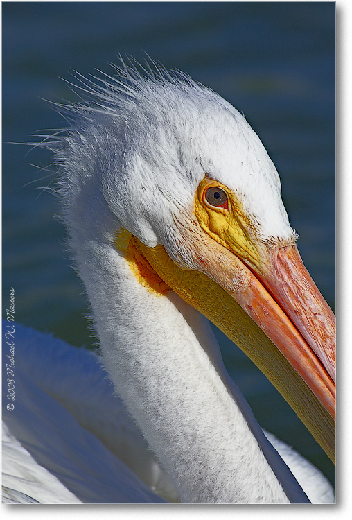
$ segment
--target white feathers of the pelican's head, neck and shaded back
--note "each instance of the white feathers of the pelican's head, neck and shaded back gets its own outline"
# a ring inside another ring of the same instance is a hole
[[[183,502],[305,502],[227,375],[209,322],[176,293],[155,295],[143,286],[115,238],[127,229],[148,248],[164,245],[183,268],[199,270],[191,209],[207,175],[236,193],[263,244],[288,245],[296,235],[279,175],[244,117],[217,94],[181,74],[118,72],[103,87],[83,80],[94,100],[69,107],[71,128],[43,146],[55,151],[62,171],[62,217],[103,365],[159,462],[92,354],[56,340],[39,350],[44,338],[31,332],[28,340],[24,329],[30,354],[18,376],[26,390],[18,392],[26,399],[6,415],[10,434],[60,480],[58,494],[63,485],[73,501],[162,501],[142,478]],[[44,356],[41,365],[36,356]],[[285,459],[283,443],[274,444]],[[296,468],[306,461],[288,458],[300,480]],[[319,481],[314,500],[333,500],[324,477],[311,466],[307,474]],[[37,481],[30,474],[21,490],[14,478],[8,487],[24,494],[28,481]],[[30,496],[41,501],[35,487]]]

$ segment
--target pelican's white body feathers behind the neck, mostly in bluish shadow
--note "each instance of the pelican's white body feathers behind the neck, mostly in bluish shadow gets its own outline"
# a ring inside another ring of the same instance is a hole
[[[3,412],[3,503],[178,501],[99,357],[52,335],[15,327],[21,400],[12,413]],[[3,366],[6,353],[3,348]],[[334,502],[333,488],[319,470],[274,435],[265,435],[312,503]]]

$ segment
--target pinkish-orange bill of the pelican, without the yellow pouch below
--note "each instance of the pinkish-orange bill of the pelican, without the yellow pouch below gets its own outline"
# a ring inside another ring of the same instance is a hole
[[[272,248],[265,277],[247,272],[245,291],[229,291],[306,381],[335,419],[335,315],[296,246]]]

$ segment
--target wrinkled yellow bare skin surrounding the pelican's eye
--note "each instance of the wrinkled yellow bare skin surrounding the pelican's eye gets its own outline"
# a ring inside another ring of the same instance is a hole
[[[219,187],[227,194],[228,209],[209,205],[205,193]],[[243,259],[258,272],[265,270],[265,254],[253,223],[245,214],[236,194],[221,182],[204,177],[195,194],[195,216],[211,238]]]

